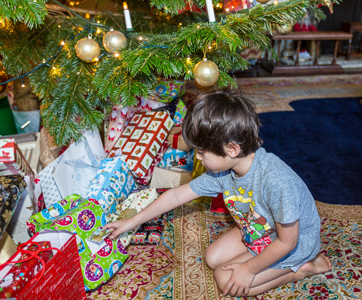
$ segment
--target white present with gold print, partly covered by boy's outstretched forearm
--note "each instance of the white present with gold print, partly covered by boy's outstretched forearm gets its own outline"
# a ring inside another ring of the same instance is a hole
[[[117,203],[115,211],[105,212],[109,221],[114,222],[122,219],[127,219],[135,215],[152,203],[158,197],[158,193],[155,188],[142,189],[139,192],[131,193],[125,200],[122,199]],[[137,231],[139,226],[134,230],[123,232],[119,235],[118,240],[123,247],[126,247],[133,234]]]

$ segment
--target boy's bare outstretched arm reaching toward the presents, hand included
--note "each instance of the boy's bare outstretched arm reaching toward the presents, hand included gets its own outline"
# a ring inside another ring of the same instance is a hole
[[[199,197],[199,195],[192,191],[189,183],[182,184],[166,190],[151,204],[131,218],[107,223],[103,228],[114,230],[110,235],[110,238],[113,239],[120,233],[131,230],[136,226],[197,197]]]

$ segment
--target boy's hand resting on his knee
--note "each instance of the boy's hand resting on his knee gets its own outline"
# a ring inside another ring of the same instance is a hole
[[[232,296],[247,295],[255,274],[251,273],[243,262],[226,264],[223,270],[232,270],[231,277],[226,283],[223,294],[229,293]]]

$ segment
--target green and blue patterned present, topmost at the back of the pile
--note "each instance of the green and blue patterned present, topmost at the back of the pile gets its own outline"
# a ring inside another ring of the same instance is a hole
[[[160,102],[171,102],[185,93],[185,81],[172,78],[160,78],[153,86],[153,93]]]

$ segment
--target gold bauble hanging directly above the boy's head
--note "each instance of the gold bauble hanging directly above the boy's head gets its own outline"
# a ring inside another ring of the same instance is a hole
[[[203,88],[210,88],[217,81],[218,75],[219,70],[216,63],[206,58],[197,62],[193,68],[193,78]]]

